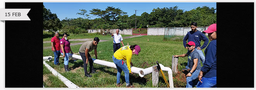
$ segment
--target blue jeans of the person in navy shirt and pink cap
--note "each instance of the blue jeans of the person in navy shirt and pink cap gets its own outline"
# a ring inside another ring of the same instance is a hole
[[[203,83],[198,82],[197,88],[216,88],[217,86],[217,77],[202,77],[201,80]]]

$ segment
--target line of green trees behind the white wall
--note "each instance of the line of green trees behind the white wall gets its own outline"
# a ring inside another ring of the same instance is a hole
[[[140,16],[135,14],[130,17],[120,8],[107,7],[105,10],[93,8],[88,12],[99,18],[90,19],[87,10],[80,9],[76,14],[83,18],[65,18],[59,20],[55,13],[43,6],[43,30],[61,30],[67,33],[87,33],[88,29],[130,29],[151,27],[190,27],[191,22],[197,22],[198,27],[209,26],[216,23],[215,8],[206,6],[197,7],[190,11],[183,11],[175,7],[154,8],[151,13],[144,12]]]

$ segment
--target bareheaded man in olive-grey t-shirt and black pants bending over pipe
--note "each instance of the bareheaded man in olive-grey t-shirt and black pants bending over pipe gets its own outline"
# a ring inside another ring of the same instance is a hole
[[[97,73],[95,69],[93,68],[93,62],[92,62],[92,57],[89,52],[94,50],[95,58],[98,59],[97,57],[97,45],[99,43],[100,39],[98,37],[95,37],[93,41],[87,41],[81,45],[79,48],[79,54],[81,55],[81,58],[83,60],[83,69],[85,70],[85,76],[86,77],[92,77],[87,72],[87,63],[90,63],[90,73]]]

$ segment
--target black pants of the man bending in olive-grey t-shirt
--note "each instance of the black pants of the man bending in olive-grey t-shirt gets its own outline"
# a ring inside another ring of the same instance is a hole
[[[87,64],[86,64],[85,53],[79,52],[79,54],[81,55],[81,57],[83,59],[83,69],[85,70],[85,73],[87,73]],[[93,64],[92,64],[92,57],[91,57],[90,53],[88,53],[88,58],[89,58],[89,63],[90,63],[90,70],[92,70]]]

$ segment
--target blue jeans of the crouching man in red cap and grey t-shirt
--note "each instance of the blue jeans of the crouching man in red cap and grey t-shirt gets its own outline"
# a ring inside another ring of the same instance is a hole
[[[197,86],[197,83],[199,82],[199,80],[197,79],[198,75],[199,75],[200,70],[195,70],[192,73],[191,77],[187,77],[187,85],[186,88],[192,88],[193,86]]]

